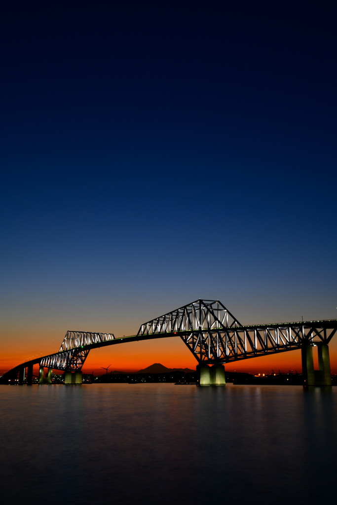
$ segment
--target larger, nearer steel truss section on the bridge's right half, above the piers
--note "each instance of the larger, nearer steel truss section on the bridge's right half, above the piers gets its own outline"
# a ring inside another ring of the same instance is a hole
[[[336,320],[242,326],[220,301],[197,300],[142,324],[138,335],[180,336],[199,363],[215,364],[328,344],[336,331]]]

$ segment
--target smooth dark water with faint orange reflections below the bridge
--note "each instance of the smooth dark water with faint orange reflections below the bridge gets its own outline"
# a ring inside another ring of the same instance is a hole
[[[0,386],[2,503],[332,503],[337,388]]]

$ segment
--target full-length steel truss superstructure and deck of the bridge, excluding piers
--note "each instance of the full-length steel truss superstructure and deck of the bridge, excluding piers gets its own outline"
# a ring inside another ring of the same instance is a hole
[[[90,349],[106,345],[179,336],[199,363],[223,364],[328,344],[337,320],[243,326],[219,300],[196,300],[140,326],[137,335],[115,338],[112,333],[67,331],[59,352],[17,365],[2,376],[39,363],[64,371],[81,370]]]

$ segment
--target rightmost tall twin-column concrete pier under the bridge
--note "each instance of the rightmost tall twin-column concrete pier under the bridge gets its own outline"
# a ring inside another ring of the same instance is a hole
[[[302,375],[304,386],[331,386],[329,347],[317,343],[318,368],[314,370],[313,344],[302,345]]]

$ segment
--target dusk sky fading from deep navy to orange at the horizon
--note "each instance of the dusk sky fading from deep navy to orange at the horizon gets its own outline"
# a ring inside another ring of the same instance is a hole
[[[1,10],[0,373],[198,298],[242,324],[337,318],[334,2]],[[197,364],[172,338],[83,371],[152,363]]]

